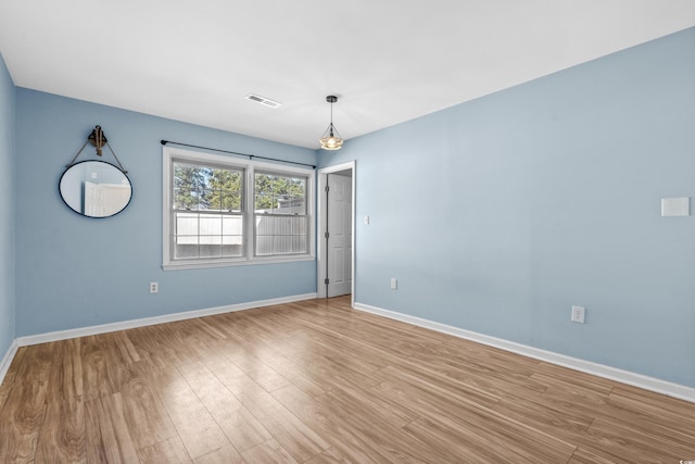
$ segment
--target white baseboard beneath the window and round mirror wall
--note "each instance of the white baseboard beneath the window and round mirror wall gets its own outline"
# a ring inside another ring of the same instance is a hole
[[[195,317],[212,316],[215,314],[231,313],[235,311],[252,310],[255,308],[271,306],[274,304],[293,303],[295,301],[313,300],[316,293],[295,294],[292,297],[273,298],[269,300],[252,301],[249,303],[229,304],[226,306],[210,308],[205,310],[186,311],[182,313],[165,314],[162,316],[143,317],[141,319],[123,321],[119,323],[102,324],[90,327],[80,327],[68,330],[50,331],[47,334],[29,335],[26,337],[17,337],[15,343],[18,347],[28,347],[30,344],[47,343],[50,341],[67,340],[77,337],[87,337],[89,335],[106,334],[110,331],[126,330],[129,328],[146,327],[155,324],[165,324],[176,321],[192,319]]]

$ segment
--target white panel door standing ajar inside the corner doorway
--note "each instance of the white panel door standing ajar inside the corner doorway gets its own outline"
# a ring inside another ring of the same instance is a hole
[[[352,289],[352,177],[327,174],[326,296],[348,294]]]

